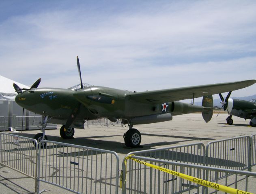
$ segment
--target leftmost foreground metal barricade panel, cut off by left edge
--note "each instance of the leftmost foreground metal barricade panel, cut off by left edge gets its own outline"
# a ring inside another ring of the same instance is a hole
[[[38,144],[35,139],[0,133],[0,163],[35,179],[37,191]]]

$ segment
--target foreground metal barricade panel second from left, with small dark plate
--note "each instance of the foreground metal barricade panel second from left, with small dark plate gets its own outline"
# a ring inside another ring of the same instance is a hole
[[[41,148],[42,143],[47,143],[47,146]],[[39,181],[65,190],[76,193],[118,193],[119,157],[116,152],[41,141],[38,167]]]

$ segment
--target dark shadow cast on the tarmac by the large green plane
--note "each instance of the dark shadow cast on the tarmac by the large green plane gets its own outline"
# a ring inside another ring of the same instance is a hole
[[[34,134],[19,134],[24,137],[33,137]],[[142,135],[153,135],[153,134],[142,134]],[[118,142],[118,141],[105,141],[105,140],[98,140],[98,139],[92,139],[92,138],[100,138],[100,137],[115,137],[120,135],[110,135],[110,136],[91,136],[91,137],[76,137],[73,139],[60,139],[60,137],[56,136],[50,136],[47,135],[48,139],[50,141],[57,141],[57,142],[63,142],[63,143],[70,143],[80,146],[87,146],[87,147],[93,147],[93,148],[99,148],[104,150],[112,150],[120,154],[128,154],[132,151],[139,151],[139,150],[149,150],[153,149],[153,146],[157,145],[170,145],[174,143],[179,143],[183,141],[172,141],[172,142],[159,142],[159,143],[150,143],[143,146],[143,148],[136,148],[136,149],[124,149],[124,143]],[[156,136],[156,135],[153,135]],[[161,135],[157,135],[161,136]],[[169,137],[168,135],[164,135]],[[180,136],[170,136],[170,137],[179,137],[179,138],[186,138],[184,141],[193,141],[195,139],[210,139],[210,138],[197,138],[197,137],[180,137]],[[210,139],[211,140],[211,139]],[[21,142],[20,142],[21,143]],[[46,146],[47,149],[53,148],[53,146]],[[24,148],[26,149],[26,148]],[[67,154],[67,155],[66,155]],[[80,153],[82,154],[82,153]],[[95,155],[96,152],[89,150],[88,154]],[[71,153],[65,153],[65,156],[77,156],[78,152],[71,152]],[[57,154],[59,157],[63,157],[64,153],[59,152]],[[146,156],[148,157],[148,156]],[[189,153],[182,153],[182,152],[176,152],[172,150],[162,150],[161,152],[156,152],[155,154],[151,154],[151,157],[161,159],[161,160],[170,160],[170,161],[178,161],[178,162],[194,162],[196,164],[203,164],[204,163],[204,157],[197,155],[197,154],[189,154]],[[235,162],[232,160],[225,160],[225,159],[219,159],[219,158],[212,158],[208,157],[208,164],[209,165],[217,165],[222,167],[245,167],[246,165],[241,162]]]

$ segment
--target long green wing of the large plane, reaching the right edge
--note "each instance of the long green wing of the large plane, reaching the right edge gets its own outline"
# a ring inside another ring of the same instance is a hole
[[[213,95],[218,93],[224,93],[228,91],[234,91],[238,89],[245,88],[254,84],[256,80],[245,80],[240,82],[227,82],[219,84],[209,84],[201,86],[189,86],[175,89],[164,89],[164,90],[155,90],[155,91],[145,91],[130,93],[126,96],[134,101],[140,102],[149,102],[149,103],[162,103],[162,102],[171,102],[179,101],[184,99],[192,99]]]

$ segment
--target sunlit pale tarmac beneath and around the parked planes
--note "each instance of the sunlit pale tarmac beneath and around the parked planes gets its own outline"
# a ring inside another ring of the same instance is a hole
[[[123,134],[128,127],[120,125],[89,125],[89,128],[75,129],[73,139],[61,139],[59,128],[57,130],[46,130],[46,135],[50,141],[59,141],[81,146],[112,150],[120,157],[120,165],[126,154],[133,151],[149,150],[154,148],[164,148],[170,146],[186,145],[190,143],[204,143],[210,141],[237,137],[241,135],[256,134],[255,127],[248,127],[250,120],[233,117],[232,125],[226,124],[228,114],[213,114],[210,122],[204,122],[201,114],[187,114],[174,116],[172,121],[155,124],[137,125],[142,134],[141,148],[127,148],[124,143]],[[39,133],[38,130],[18,131],[15,135],[33,137]],[[8,132],[7,132],[8,133]],[[120,167],[121,169],[121,167]],[[47,183],[40,183],[40,188],[46,188],[43,193],[70,193],[56,186]],[[0,193],[17,194],[33,193],[34,179],[7,167],[0,168]]]

